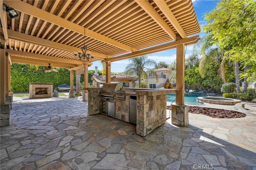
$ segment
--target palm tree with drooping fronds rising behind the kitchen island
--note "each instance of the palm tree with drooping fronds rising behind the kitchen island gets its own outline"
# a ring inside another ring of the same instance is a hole
[[[125,74],[128,75],[134,75],[134,76],[138,76],[139,79],[139,88],[141,87],[141,77],[144,75],[145,77],[147,77],[147,73],[146,71],[149,71],[150,73],[152,73],[152,75],[157,77],[156,72],[154,71],[154,69],[149,69],[147,68],[148,66],[156,66],[156,61],[152,60],[152,59],[148,59],[148,57],[146,55],[142,55],[139,57],[135,57],[135,58],[131,58],[129,59],[129,64],[125,67]]]

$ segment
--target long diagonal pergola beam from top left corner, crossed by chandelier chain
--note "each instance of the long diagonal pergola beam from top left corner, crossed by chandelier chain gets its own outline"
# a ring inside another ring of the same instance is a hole
[[[28,14],[30,16],[34,16],[35,18],[44,20],[45,22],[50,22],[51,24],[55,24],[57,26],[61,26],[63,28],[66,28],[68,30],[72,30],[74,32],[77,32],[79,34],[84,35],[84,29],[86,32],[86,36],[93,38],[95,40],[99,40],[104,43],[108,43],[110,45],[116,46],[118,48],[127,50],[127,51],[138,51],[138,49],[135,49],[133,47],[130,47],[126,44],[120,43],[116,40],[113,40],[111,38],[108,38],[106,36],[103,36],[101,34],[98,34],[96,32],[93,32],[92,30],[89,30],[87,28],[84,28],[83,26],[80,26],[78,24],[75,24],[73,22],[70,22],[68,20],[65,20],[64,18],[60,18],[54,14],[51,14],[49,12],[46,12],[44,10],[41,10],[40,8],[36,8],[35,6],[32,6],[30,4],[27,4],[25,2],[15,0],[15,1],[8,1],[5,0],[4,3],[6,5],[12,6],[15,10],[18,10],[20,12],[24,12],[25,14]]]

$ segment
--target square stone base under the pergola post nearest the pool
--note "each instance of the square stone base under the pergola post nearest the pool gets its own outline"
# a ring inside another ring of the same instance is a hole
[[[172,124],[181,127],[188,126],[187,105],[172,105]]]

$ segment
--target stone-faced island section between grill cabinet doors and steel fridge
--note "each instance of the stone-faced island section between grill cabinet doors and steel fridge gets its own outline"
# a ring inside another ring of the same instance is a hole
[[[125,96],[125,100],[117,99],[118,93],[116,93],[116,119],[129,122],[129,95]]]

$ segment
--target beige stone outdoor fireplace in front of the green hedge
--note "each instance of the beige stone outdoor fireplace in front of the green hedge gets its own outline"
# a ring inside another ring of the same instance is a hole
[[[52,83],[30,83],[29,98],[52,97]]]

